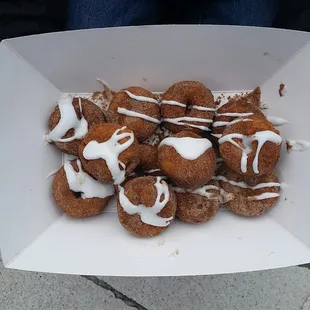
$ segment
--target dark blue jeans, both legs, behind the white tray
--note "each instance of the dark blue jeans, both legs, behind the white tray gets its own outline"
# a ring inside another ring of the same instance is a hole
[[[150,24],[270,27],[279,0],[69,0],[69,29]]]

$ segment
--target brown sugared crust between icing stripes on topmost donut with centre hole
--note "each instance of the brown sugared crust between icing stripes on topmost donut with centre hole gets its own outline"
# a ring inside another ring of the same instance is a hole
[[[196,109],[190,109],[190,106],[201,106],[205,108],[215,109],[214,97],[211,91],[206,88],[203,84],[196,81],[182,81],[173,84],[168,90],[162,95],[162,100],[174,100],[180,103],[186,104],[187,108],[174,106],[174,105],[161,105],[161,115],[165,118],[178,118],[178,117],[196,117],[204,119],[213,119],[213,111],[200,111]],[[185,122],[191,123],[198,126],[210,126],[209,122]],[[190,130],[197,134],[201,134],[202,131],[197,128],[189,126],[180,126],[165,122],[165,126],[173,133],[178,133],[184,130]]]

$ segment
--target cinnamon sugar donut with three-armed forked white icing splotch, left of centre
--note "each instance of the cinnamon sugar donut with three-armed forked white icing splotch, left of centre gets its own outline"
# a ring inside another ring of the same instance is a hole
[[[131,130],[117,124],[100,124],[82,141],[83,168],[103,183],[121,184],[139,163],[139,143]]]

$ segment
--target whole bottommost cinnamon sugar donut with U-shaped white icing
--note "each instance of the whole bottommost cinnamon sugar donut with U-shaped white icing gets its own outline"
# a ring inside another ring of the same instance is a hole
[[[160,177],[140,177],[119,186],[119,221],[135,236],[152,237],[165,231],[176,206],[172,188]]]

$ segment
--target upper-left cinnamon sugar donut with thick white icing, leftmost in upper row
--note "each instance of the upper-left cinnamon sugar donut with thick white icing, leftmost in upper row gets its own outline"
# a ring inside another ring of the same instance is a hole
[[[77,156],[88,130],[104,122],[103,112],[94,103],[64,95],[50,115],[47,138],[64,153]]]

